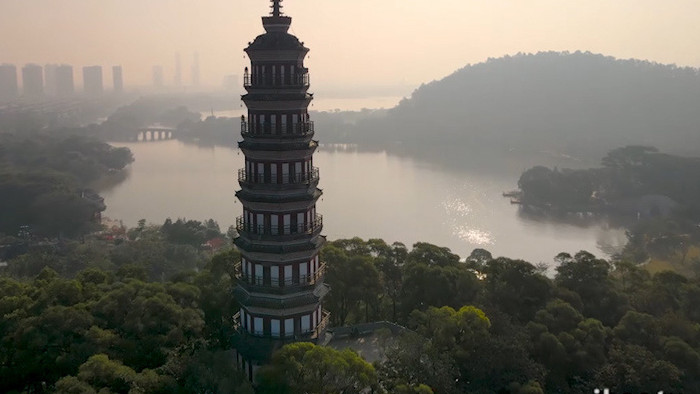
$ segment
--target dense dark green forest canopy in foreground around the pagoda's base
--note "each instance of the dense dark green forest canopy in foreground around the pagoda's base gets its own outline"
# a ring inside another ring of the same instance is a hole
[[[147,250],[189,242],[175,227],[214,231],[170,221],[129,230],[112,252],[86,243],[11,260],[0,276],[0,390],[252,392],[231,354],[240,255],[167,270]],[[378,344],[385,358],[374,365],[347,350],[284,347],[258,392],[700,390],[697,278],[587,252],[558,255],[553,277],[483,249],[463,259],[420,242],[344,239],[322,253],[335,326],[389,320],[406,330]]]

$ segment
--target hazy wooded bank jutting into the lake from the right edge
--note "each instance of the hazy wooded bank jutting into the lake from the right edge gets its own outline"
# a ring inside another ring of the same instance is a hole
[[[536,166],[518,181],[518,203],[541,215],[604,214],[628,228],[625,259],[700,272],[700,158],[645,146],[610,151],[602,166]]]

